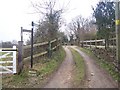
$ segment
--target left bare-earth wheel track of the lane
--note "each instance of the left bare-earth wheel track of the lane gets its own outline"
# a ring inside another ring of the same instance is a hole
[[[66,47],[63,47],[66,51],[66,58],[61,64],[60,68],[53,76],[53,78],[48,82],[45,88],[70,88],[72,80],[72,71],[73,71],[73,57],[70,50]]]

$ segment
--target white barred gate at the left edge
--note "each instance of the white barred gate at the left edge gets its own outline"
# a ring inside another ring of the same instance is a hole
[[[0,49],[0,74],[13,73],[16,71],[16,46],[13,48]]]

